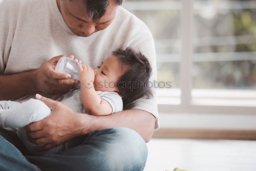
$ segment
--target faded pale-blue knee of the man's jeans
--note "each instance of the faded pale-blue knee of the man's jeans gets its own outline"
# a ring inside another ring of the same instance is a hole
[[[104,139],[103,160],[111,170],[143,170],[147,160],[147,145],[134,130],[125,127],[113,127],[96,130],[94,136]],[[112,167],[112,168],[111,168]]]

